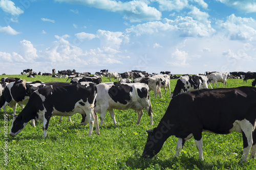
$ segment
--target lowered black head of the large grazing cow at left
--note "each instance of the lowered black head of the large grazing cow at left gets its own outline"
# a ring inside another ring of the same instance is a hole
[[[26,126],[27,122],[25,121],[25,118],[23,115],[17,115],[13,116],[12,119],[12,126],[9,135],[14,137],[16,136],[19,132],[21,132],[24,127]]]

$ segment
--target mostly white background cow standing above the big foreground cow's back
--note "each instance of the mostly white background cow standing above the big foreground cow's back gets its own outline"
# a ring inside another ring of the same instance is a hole
[[[218,82],[222,82],[224,87],[227,87],[227,75],[228,72],[213,72],[212,74],[209,75],[208,81],[209,84],[212,83],[212,86],[210,85],[211,88],[214,88],[214,83],[216,83],[216,86],[218,88]]]

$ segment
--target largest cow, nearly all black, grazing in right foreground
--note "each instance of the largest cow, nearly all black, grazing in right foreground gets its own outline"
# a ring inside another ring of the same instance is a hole
[[[218,107],[209,108],[212,103]],[[171,135],[179,138],[175,154],[179,156],[185,141],[194,136],[199,158],[203,160],[203,131],[216,134],[229,134],[237,131],[243,136],[242,160],[247,160],[250,149],[250,157],[254,158],[256,152],[255,112],[255,87],[201,89],[182,93],[170,101],[158,126],[148,131],[142,156],[150,158],[155,156]]]

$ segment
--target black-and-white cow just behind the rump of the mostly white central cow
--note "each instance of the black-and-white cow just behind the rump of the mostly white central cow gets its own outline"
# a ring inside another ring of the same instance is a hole
[[[157,94],[162,98],[161,93],[161,80],[158,77],[147,77],[147,78],[137,78],[134,79],[133,83],[145,83],[150,88],[150,91],[153,90],[155,94],[155,98],[157,98]]]

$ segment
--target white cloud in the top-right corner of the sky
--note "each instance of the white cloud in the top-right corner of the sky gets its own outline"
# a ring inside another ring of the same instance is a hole
[[[248,0],[217,0],[228,7],[232,7],[245,13],[256,12],[256,2]]]

